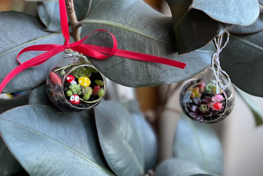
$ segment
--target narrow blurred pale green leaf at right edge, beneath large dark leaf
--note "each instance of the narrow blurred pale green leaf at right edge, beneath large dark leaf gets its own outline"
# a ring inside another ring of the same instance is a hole
[[[242,90],[238,89],[235,86],[236,92],[238,95],[242,98],[242,100],[247,104],[249,109],[254,115],[256,126],[260,126],[263,124],[263,113],[260,109],[260,107],[256,104],[256,102],[253,100],[253,96],[247,94],[246,92],[243,92]]]

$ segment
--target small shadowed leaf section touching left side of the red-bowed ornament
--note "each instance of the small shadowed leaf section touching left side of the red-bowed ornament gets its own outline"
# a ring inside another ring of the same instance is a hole
[[[42,104],[53,106],[46,91],[46,82],[30,90],[29,104]]]

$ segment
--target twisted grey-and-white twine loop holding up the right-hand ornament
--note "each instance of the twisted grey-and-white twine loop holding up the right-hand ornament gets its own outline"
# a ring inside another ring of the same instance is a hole
[[[231,80],[229,78],[229,76],[227,75],[227,73],[222,70],[221,66],[220,66],[220,61],[219,61],[219,54],[221,53],[221,51],[224,49],[224,47],[227,45],[227,42],[229,40],[229,33],[226,31],[227,34],[227,40],[225,41],[224,45],[222,46],[222,39],[224,34],[219,35],[217,38],[214,38],[215,41],[215,47],[216,47],[216,52],[214,53],[214,55],[212,56],[212,70],[213,70],[213,75],[215,75],[215,86],[216,86],[216,93],[219,94],[220,90],[219,90],[219,86],[221,88],[226,88],[231,84]],[[228,84],[224,85],[220,78],[219,78],[219,74],[222,74],[224,76],[227,77],[228,79]]]

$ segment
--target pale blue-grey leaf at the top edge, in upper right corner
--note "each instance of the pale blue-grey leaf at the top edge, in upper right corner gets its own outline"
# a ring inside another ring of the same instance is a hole
[[[248,26],[259,16],[258,0],[193,0],[189,9],[198,9],[211,18],[228,24]]]

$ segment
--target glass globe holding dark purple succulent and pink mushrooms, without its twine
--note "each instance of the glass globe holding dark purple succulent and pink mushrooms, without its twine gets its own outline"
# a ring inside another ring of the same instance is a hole
[[[203,80],[189,81],[181,91],[180,102],[184,113],[199,122],[214,123],[223,120],[233,109],[231,89],[219,89]]]

